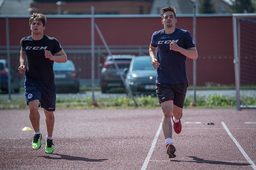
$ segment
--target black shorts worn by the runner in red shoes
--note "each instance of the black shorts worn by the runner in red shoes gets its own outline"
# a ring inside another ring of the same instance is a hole
[[[156,95],[159,103],[173,100],[173,104],[183,108],[186,97],[188,83],[170,85],[166,83],[156,82]]]

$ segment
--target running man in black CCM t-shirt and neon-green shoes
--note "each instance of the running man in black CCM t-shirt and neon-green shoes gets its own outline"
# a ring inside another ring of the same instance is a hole
[[[19,73],[25,75],[25,98],[29,107],[29,119],[35,131],[32,148],[41,147],[42,133],[39,129],[40,115],[38,107],[43,107],[47,136],[45,136],[45,153],[52,153],[54,144],[52,132],[54,125],[56,88],[54,84],[53,63],[65,63],[67,55],[60,42],[44,35],[46,18],[43,14],[33,13],[29,18],[32,34],[20,41]],[[28,63],[28,68],[26,64]]]

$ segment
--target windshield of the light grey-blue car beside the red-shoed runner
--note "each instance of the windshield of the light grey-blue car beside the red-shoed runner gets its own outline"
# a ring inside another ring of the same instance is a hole
[[[133,62],[132,70],[154,70],[150,57],[136,57]]]

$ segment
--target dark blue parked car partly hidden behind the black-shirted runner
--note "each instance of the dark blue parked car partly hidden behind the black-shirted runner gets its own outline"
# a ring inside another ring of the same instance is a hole
[[[66,63],[54,62],[53,72],[57,92],[79,92],[78,71],[71,60]]]

